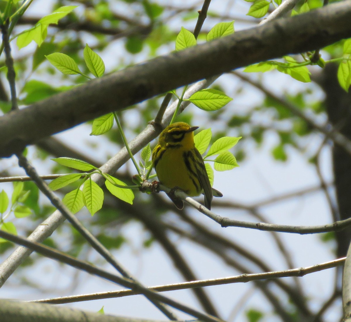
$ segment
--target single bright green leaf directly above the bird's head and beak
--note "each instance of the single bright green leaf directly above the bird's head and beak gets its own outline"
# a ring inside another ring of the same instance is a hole
[[[227,105],[233,99],[217,89],[201,89],[190,96],[191,101],[198,108],[205,111],[215,111]]]

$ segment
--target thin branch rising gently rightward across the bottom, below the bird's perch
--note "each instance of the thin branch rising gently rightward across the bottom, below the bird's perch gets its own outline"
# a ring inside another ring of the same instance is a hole
[[[232,284],[232,283],[247,283],[251,281],[276,279],[280,277],[292,277],[292,276],[302,277],[304,275],[315,273],[317,271],[343,265],[345,262],[345,258],[346,257],[343,257],[337,260],[320,263],[313,266],[307,266],[307,267],[300,267],[300,268],[287,269],[287,270],[281,270],[281,271],[272,271],[267,273],[240,274],[237,276],[221,277],[217,279],[207,279],[207,280],[200,280],[200,281],[166,284],[166,285],[152,286],[149,289],[152,289],[158,292],[165,292],[165,291],[189,289],[193,287],[206,287],[206,286],[224,285],[224,284]],[[32,302],[64,304],[64,303],[73,303],[73,302],[80,302],[80,301],[98,300],[102,298],[123,297],[123,296],[130,296],[130,295],[136,295],[136,294],[138,293],[135,293],[134,291],[131,291],[131,290],[118,290],[118,291],[108,291],[108,292],[101,292],[101,293],[82,294],[82,295],[75,295],[75,296],[47,298],[43,300],[35,300]]]

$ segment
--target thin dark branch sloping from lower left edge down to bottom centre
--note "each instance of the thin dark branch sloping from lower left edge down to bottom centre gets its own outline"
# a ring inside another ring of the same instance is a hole
[[[135,287],[135,282],[130,280],[130,279],[126,279],[124,277],[114,275],[108,271],[105,271],[103,269],[92,266],[84,261],[75,259],[74,257],[69,256],[65,253],[62,253],[62,252],[60,252],[56,249],[53,249],[51,247],[48,247],[48,246],[45,246],[43,244],[39,244],[36,242],[30,242],[23,237],[9,234],[3,230],[0,230],[0,237],[4,238],[6,240],[9,240],[11,242],[14,242],[16,244],[22,245],[24,247],[27,247],[29,249],[32,249],[32,250],[36,251],[37,253],[44,255],[46,257],[49,257],[53,260],[56,260],[60,263],[64,262],[64,263],[68,264],[69,266],[84,270],[89,274],[102,277],[105,280],[117,283],[117,284],[122,285],[124,287],[131,288],[131,289],[133,289],[133,288],[137,289],[137,287]],[[170,306],[172,306],[180,311],[183,311],[184,313],[187,313],[189,315],[197,317],[200,320],[203,320],[206,322],[223,322],[222,320],[220,320],[216,317],[208,316],[207,314],[203,314],[201,312],[198,312],[197,310],[189,308],[189,307],[185,306],[184,304],[180,304],[180,303],[172,300],[171,298],[168,298],[168,297],[165,297],[161,294],[155,293],[155,291],[151,290],[150,288],[145,288],[143,290],[140,290],[139,294],[146,294],[148,297],[152,298],[153,300],[168,304],[168,305],[170,305]]]

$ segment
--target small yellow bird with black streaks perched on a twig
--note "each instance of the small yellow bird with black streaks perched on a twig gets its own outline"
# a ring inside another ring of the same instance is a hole
[[[183,209],[184,203],[174,196],[175,189],[181,189],[191,197],[203,193],[205,207],[209,210],[213,196],[223,196],[211,187],[204,159],[195,147],[194,131],[198,128],[185,122],[168,125],[161,132],[158,144],[152,152],[153,167],[158,180],[172,189],[167,195],[178,209]]]

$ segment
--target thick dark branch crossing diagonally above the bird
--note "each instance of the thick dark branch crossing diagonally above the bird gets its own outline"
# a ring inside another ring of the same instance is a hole
[[[0,118],[0,156],[199,79],[348,38],[350,20],[351,1],[338,2],[94,79]]]

